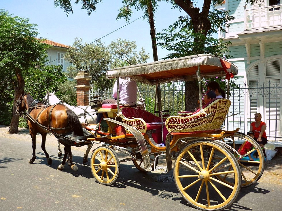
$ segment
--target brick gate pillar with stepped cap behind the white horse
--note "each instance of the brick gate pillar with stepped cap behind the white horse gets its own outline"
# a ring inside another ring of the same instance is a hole
[[[74,79],[77,80],[77,85],[75,86],[77,106],[89,105],[88,94],[92,77],[88,71],[79,71]]]

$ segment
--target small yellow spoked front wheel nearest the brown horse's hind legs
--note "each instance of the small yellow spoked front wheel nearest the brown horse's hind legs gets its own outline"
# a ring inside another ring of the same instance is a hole
[[[118,156],[110,147],[97,147],[91,156],[91,172],[102,185],[111,185],[120,172]]]

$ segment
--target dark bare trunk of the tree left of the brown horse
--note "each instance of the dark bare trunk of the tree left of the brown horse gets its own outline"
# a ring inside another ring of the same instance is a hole
[[[19,97],[24,94],[24,79],[22,78],[22,73],[19,68],[16,68],[16,76],[18,78],[18,86],[15,86],[15,97],[14,97],[14,105],[13,105],[13,116],[10,123],[9,133],[17,133],[19,127],[19,117],[16,116],[16,103]]]

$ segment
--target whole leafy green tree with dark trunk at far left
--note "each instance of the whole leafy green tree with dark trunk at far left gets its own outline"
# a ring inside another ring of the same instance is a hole
[[[22,73],[35,68],[44,60],[49,47],[36,38],[36,26],[30,24],[29,19],[12,17],[8,11],[0,10],[0,69],[8,79],[14,78],[10,85],[15,90],[10,133],[18,132],[19,118],[15,115],[15,104],[24,93]]]

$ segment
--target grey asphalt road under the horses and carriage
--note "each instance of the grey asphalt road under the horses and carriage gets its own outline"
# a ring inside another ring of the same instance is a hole
[[[84,152],[76,150],[80,148],[72,147],[77,172],[67,165],[64,171],[58,171],[61,161],[56,156],[56,146],[47,141],[46,148],[53,159],[51,166],[40,143],[37,160],[29,164],[31,139],[0,136],[0,211],[196,210],[178,193],[171,177],[173,171],[165,175],[142,173],[130,161],[120,165],[116,183],[104,186],[95,181],[90,167],[82,164]],[[165,182],[160,177],[165,177]],[[241,189],[227,210],[281,210],[281,195],[281,183],[262,178],[262,182]]]

